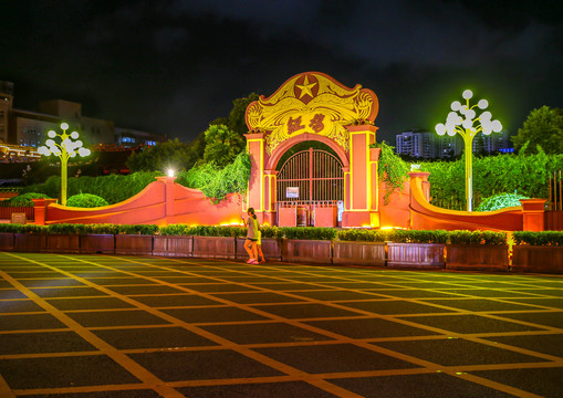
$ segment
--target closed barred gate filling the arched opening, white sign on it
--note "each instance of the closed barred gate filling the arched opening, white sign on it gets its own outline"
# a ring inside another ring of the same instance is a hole
[[[310,148],[292,155],[277,178],[278,224],[335,226],[344,205],[344,171],[333,154]]]

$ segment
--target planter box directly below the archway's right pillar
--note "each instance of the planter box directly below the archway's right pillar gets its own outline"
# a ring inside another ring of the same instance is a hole
[[[385,266],[384,242],[334,242],[334,264]]]

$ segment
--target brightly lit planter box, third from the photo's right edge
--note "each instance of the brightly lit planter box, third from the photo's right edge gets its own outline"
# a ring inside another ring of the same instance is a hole
[[[442,243],[387,243],[387,266],[444,269]]]

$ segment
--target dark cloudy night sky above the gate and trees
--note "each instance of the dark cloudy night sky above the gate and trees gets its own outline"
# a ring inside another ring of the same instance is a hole
[[[472,88],[515,132],[563,107],[563,1],[2,0],[0,80],[15,107],[83,115],[188,142],[232,100],[307,71],[379,98],[377,140],[444,122]]]

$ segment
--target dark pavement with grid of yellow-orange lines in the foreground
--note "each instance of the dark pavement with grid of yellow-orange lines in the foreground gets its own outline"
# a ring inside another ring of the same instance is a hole
[[[562,287],[0,253],[0,397],[562,397]]]

